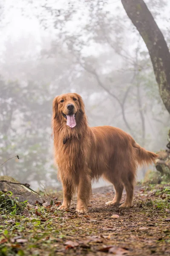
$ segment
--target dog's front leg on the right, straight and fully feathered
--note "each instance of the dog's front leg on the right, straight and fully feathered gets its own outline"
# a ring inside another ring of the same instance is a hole
[[[80,174],[79,183],[78,183],[78,199],[77,199],[77,207],[76,207],[77,212],[83,213],[87,211],[91,191],[92,191],[91,178],[89,174],[82,172]]]

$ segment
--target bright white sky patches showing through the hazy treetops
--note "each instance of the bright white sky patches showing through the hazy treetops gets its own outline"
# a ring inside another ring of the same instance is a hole
[[[86,0],[84,0],[86,2]],[[149,2],[150,0],[147,0]],[[81,0],[48,0],[48,5],[55,6],[56,9],[67,9],[69,8],[69,2],[74,3],[74,6],[78,8],[78,14],[74,16],[72,22],[68,23],[67,29],[70,33],[73,33],[76,29],[81,29],[81,24],[86,23],[87,14],[86,9],[84,9],[83,1]],[[120,7],[119,12],[124,12],[121,0],[109,0],[109,4],[105,7],[107,10],[112,10],[113,17],[115,12],[117,12],[116,7]],[[15,41],[21,37],[28,37],[32,35],[36,41],[37,50],[40,48],[42,38],[48,38],[49,41],[55,39],[56,31],[53,29],[52,17],[49,15],[47,19],[49,20],[48,29],[44,30],[40,28],[39,20],[35,15],[40,14],[42,10],[42,5],[46,3],[45,0],[2,0],[2,6],[4,6],[3,15],[1,16],[1,26],[0,26],[0,51],[2,52],[6,39]],[[22,10],[24,16],[22,15]],[[82,13],[84,16],[82,18]],[[170,26],[170,1],[168,1],[168,6],[165,10],[161,10],[161,17],[157,20],[158,26],[161,29]],[[27,16],[27,17],[26,17]],[[81,18],[78,19],[78,18]],[[163,17],[167,17],[168,21],[164,21]],[[62,17],[61,17],[62,18]],[[91,49],[90,49],[91,48]],[[95,53],[94,47],[88,47],[88,52]]]

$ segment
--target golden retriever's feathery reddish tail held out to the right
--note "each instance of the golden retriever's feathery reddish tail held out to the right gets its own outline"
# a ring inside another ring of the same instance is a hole
[[[133,143],[133,148],[135,149],[135,158],[139,165],[154,163],[158,157],[157,154],[147,151],[138,145],[138,143],[135,143],[135,141]]]

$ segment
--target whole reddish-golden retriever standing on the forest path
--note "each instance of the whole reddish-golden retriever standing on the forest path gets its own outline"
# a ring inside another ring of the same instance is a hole
[[[155,153],[142,148],[119,128],[89,127],[84,102],[77,93],[53,100],[52,135],[58,178],[63,185],[59,209],[68,209],[77,192],[76,211],[87,211],[91,182],[100,177],[115,187],[115,197],[107,205],[119,205],[125,187],[126,200],[120,207],[133,206],[137,166],[154,162]]]

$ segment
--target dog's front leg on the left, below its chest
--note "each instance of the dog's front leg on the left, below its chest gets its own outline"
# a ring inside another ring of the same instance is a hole
[[[62,183],[63,183],[63,204],[58,209],[66,210],[70,207],[70,203],[72,200],[72,185],[64,181],[62,181]]]

